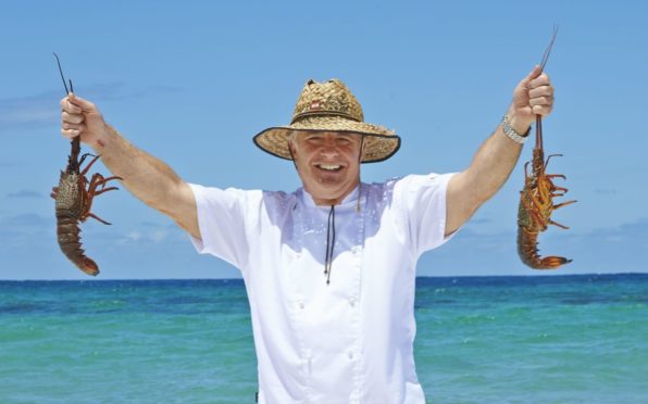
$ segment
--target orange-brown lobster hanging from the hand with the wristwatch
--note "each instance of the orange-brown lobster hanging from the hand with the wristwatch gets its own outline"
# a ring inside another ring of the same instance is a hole
[[[556,34],[557,28],[553,29],[553,37],[543,56],[541,68],[545,68],[545,64],[549,59]],[[568,189],[553,184],[553,178],[565,179],[565,176],[562,174],[547,174],[547,165],[549,159],[561,155],[551,154],[545,161],[543,118],[540,115],[536,115],[536,144],[533,149],[532,161],[524,164],[524,189],[520,192],[520,207],[518,209],[518,254],[524,264],[534,269],[556,269],[572,262],[572,260],[562,256],[541,257],[537,248],[538,235],[547,230],[549,225],[563,229],[569,228],[553,222],[551,213],[559,207],[576,202],[568,201],[553,204],[553,198],[563,197]],[[532,166],[531,175],[528,174],[529,163]]]

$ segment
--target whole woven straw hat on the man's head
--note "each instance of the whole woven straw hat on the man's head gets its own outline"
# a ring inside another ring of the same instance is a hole
[[[254,144],[277,157],[292,160],[288,137],[292,131],[341,131],[364,136],[363,163],[382,162],[398,151],[400,138],[382,126],[364,122],[362,106],[338,79],[308,80],[288,126],[275,126],[254,136]]]

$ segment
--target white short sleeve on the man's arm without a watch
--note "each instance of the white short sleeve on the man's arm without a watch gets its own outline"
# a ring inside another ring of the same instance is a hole
[[[191,242],[201,254],[223,258],[239,269],[246,264],[249,242],[246,232],[246,203],[249,191],[189,184],[196,198],[200,239]]]

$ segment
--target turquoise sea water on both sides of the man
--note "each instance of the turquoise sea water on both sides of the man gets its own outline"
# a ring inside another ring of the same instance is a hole
[[[431,403],[648,403],[648,275],[419,278]],[[0,402],[251,403],[240,280],[0,281]]]

